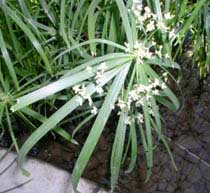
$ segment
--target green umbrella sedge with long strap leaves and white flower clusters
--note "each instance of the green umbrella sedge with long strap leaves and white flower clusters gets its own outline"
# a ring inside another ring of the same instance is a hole
[[[183,41],[186,26],[193,18],[186,22],[185,28],[182,25],[180,30],[174,28],[179,24],[176,2],[169,0],[14,2],[0,0],[0,13],[10,32],[0,33],[1,62],[7,68],[10,77],[7,80],[15,86],[15,94],[5,112],[11,116],[23,113],[29,120],[40,123],[19,150],[21,168],[31,148],[49,132],[55,131],[77,143],[77,131],[94,119],[73,169],[76,191],[113,111],[118,112],[118,124],[114,128],[110,158],[112,190],[117,184],[123,158],[129,156],[128,148],[131,159],[126,172],[132,172],[135,167],[138,136],[147,163],[146,180],[152,174],[155,138],[165,146],[176,168],[162,134],[159,107],[179,109],[168,79],[175,80],[170,72],[180,69],[174,62],[174,42]],[[21,45],[20,34],[30,51],[28,54]],[[10,59],[9,52],[5,54],[8,49],[15,53]],[[25,72],[32,70],[32,76],[26,78],[20,68]],[[44,78],[38,76],[40,72]],[[4,76],[0,77],[1,90],[5,89]],[[20,81],[23,78],[25,87]],[[3,95],[0,97],[5,101]],[[40,111],[43,101],[55,107],[48,116]],[[56,107],[55,101],[62,101],[62,106]],[[61,125],[77,117],[78,110],[84,111],[80,116],[83,120],[69,134]]]

